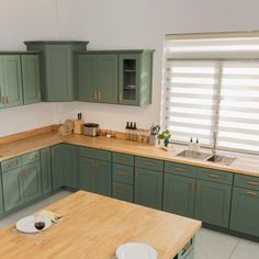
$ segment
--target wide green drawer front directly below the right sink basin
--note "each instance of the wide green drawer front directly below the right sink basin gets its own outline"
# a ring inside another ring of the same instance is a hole
[[[198,179],[221,182],[230,185],[233,183],[233,173],[213,170],[210,168],[198,168]]]

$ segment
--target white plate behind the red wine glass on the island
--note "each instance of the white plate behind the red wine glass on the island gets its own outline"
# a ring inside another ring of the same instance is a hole
[[[42,230],[52,226],[52,221],[47,216],[41,216],[41,221],[45,223],[45,227]],[[35,227],[35,215],[26,216],[16,222],[16,229],[23,233],[38,233]]]

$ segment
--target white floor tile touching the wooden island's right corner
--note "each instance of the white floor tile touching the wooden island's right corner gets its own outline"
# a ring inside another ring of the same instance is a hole
[[[239,238],[202,228],[195,244],[195,259],[228,259]]]

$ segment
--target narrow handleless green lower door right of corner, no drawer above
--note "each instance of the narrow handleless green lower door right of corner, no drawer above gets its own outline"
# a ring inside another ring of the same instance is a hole
[[[63,145],[64,184],[69,188],[78,188],[77,146]]]

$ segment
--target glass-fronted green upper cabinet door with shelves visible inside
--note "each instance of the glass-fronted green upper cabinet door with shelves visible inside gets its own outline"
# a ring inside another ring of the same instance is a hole
[[[140,54],[119,55],[119,102],[139,105]]]

